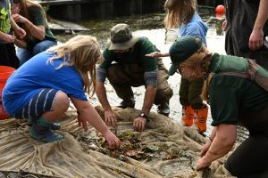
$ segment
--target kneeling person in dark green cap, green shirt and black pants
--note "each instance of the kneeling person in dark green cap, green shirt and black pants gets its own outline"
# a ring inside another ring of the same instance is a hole
[[[240,123],[249,136],[224,167],[237,177],[268,177],[268,71],[253,60],[209,53],[195,36],[172,44],[170,56],[173,73],[178,69],[189,79],[207,78],[202,98],[210,103],[214,129],[200,152],[197,170],[232,149]]]

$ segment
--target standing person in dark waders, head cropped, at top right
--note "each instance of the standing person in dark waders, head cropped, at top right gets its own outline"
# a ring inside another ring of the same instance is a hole
[[[225,51],[230,55],[255,59],[268,69],[268,1],[224,0],[226,20]]]

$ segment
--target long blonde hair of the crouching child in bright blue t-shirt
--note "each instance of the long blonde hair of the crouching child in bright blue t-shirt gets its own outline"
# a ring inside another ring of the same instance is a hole
[[[57,53],[48,60],[53,64],[55,59],[63,58],[63,66],[73,66],[82,77],[84,90],[88,94],[94,94],[96,90],[96,62],[102,61],[100,45],[93,36],[75,36],[64,44],[58,44],[48,49],[48,52]],[[88,72],[89,76],[88,77]]]

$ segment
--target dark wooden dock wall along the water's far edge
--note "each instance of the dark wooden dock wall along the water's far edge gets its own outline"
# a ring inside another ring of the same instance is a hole
[[[205,0],[215,5],[221,0]],[[165,0],[38,0],[48,6],[48,14],[61,20],[113,18],[148,12],[163,12]],[[198,1],[198,4],[204,1]],[[203,4],[202,3],[202,4]]]

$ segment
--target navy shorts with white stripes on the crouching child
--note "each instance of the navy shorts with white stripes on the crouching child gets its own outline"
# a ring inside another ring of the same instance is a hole
[[[13,115],[15,118],[32,118],[37,119],[45,112],[53,110],[54,98],[59,90],[44,88],[37,93],[29,103],[26,104],[19,112]]]

